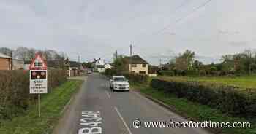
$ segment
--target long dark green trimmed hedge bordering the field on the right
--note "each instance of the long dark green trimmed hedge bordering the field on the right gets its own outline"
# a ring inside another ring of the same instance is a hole
[[[242,117],[256,116],[256,92],[252,89],[241,90],[238,87],[221,84],[162,79],[152,79],[151,87],[165,90],[178,98],[187,98],[220,109],[228,114]]]

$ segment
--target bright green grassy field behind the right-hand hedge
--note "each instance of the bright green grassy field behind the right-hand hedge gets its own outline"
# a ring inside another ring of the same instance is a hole
[[[237,77],[228,77],[228,76],[173,76],[166,77],[161,76],[160,79],[177,79],[177,80],[189,80],[197,82],[211,82],[211,83],[221,83],[233,85],[236,87],[245,88],[255,88],[256,89],[256,76],[237,76]]]

